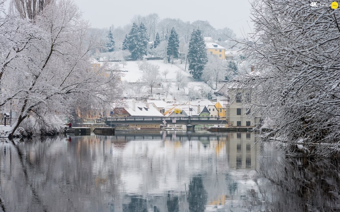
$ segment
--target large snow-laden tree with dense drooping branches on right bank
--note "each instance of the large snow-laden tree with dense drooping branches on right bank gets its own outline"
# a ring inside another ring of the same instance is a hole
[[[244,42],[254,71],[237,79],[251,92],[287,154],[339,155],[340,13],[308,1],[255,0],[253,42]],[[260,126],[258,126],[260,127]]]

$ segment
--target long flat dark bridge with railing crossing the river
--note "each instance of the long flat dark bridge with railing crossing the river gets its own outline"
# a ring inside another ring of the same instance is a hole
[[[110,124],[227,124],[226,117],[200,117],[200,116],[135,116],[135,117],[113,117],[107,118],[105,123]]]

